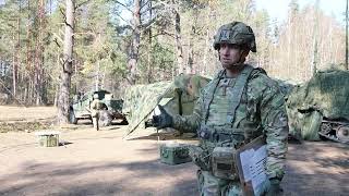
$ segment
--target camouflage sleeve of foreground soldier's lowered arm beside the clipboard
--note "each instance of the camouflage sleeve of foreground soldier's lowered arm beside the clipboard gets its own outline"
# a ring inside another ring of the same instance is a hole
[[[281,180],[285,173],[288,119],[284,96],[275,83],[270,82],[263,90],[261,120],[267,143],[267,174]]]

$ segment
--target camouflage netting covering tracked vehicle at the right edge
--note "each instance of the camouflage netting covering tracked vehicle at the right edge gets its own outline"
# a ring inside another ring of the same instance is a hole
[[[297,86],[288,96],[290,133],[303,139],[318,140],[323,118],[349,120],[349,72],[327,70]]]

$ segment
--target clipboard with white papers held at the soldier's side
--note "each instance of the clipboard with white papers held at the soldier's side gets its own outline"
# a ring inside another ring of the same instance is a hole
[[[249,159],[249,156],[253,157]],[[244,196],[261,195],[258,189],[261,188],[261,186],[257,185],[261,185],[262,182],[267,180],[267,175],[265,172],[266,157],[266,140],[263,135],[237,150],[236,166],[241,183],[242,194]],[[264,159],[262,160],[263,163],[261,161],[256,162],[256,160],[261,160],[262,158]],[[246,171],[246,162],[249,164],[248,170],[250,172]],[[244,171],[246,172],[244,173]],[[253,171],[254,173],[252,173],[251,171]],[[265,176],[264,180],[263,176]]]

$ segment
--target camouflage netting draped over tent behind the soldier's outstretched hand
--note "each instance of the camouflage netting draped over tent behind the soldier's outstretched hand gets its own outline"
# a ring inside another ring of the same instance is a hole
[[[209,82],[198,75],[179,75],[172,82],[135,85],[125,90],[122,112],[129,122],[128,134],[144,127],[159,103],[171,114],[191,114],[200,89]]]

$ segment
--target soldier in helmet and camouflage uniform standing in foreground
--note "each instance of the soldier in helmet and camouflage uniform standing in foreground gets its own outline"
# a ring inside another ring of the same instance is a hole
[[[239,148],[251,139],[266,138],[268,181],[261,195],[279,195],[287,152],[288,120],[284,96],[264,70],[244,64],[250,51],[256,52],[250,26],[241,22],[222,25],[214,40],[222,70],[202,90],[192,115],[173,115],[159,106],[153,117],[156,127],[197,132],[198,147],[191,148],[201,195],[241,195],[237,174],[215,176],[212,155],[217,147]],[[236,177],[233,177],[236,176]]]

